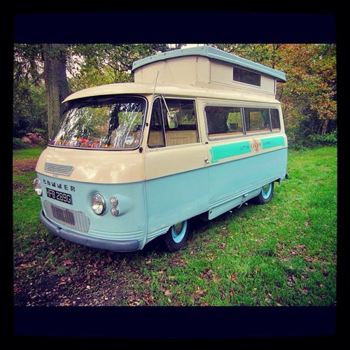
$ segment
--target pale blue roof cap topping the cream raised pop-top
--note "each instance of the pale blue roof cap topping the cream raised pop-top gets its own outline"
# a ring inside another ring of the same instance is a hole
[[[139,59],[132,64],[132,71],[141,68],[141,66],[146,66],[146,64],[151,64],[153,62],[162,61],[164,59],[172,59],[176,57],[185,56],[202,56],[212,59],[218,59],[219,61],[228,62],[234,64],[235,66],[241,66],[246,69],[251,69],[252,71],[257,71],[259,73],[266,74],[267,76],[272,76],[279,81],[286,81],[286,73],[282,71],[277,71],[276,69],[269,68],[263,64],[255,63],[249,59],[245,59],[232,53],[219,50],[218,48],[213,48],[209,45],[198,46],[197,48],[184,48],[180,50],[172,50],[167,52],[162,52],[158,55],[153,55]]]

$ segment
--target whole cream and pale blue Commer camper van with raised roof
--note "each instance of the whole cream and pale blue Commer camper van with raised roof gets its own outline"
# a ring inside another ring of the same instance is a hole
[[[286,177],[275,99],[285,73],[211,46],[146,57],[133,71],[134,83],[64,100],[34,181],[48,230],[109,251],[137,251],[162,235],[177,251],[190,218],[271,200]]]

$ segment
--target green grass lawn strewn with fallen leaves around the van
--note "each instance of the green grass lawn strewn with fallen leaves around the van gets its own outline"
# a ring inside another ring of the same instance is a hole
[[[202,223],[183,250],[134,253],[55,237],[31,183],[41,148],[13,151],[15,305],[335,305],[337,148],[289,151],[272,202]]]

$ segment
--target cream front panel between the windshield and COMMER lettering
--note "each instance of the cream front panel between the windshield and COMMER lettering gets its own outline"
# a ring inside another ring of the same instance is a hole
[[[71,165],[69,176],[45,172],[45,162]],[[130,183],[144,180],[144,155],[136,151],[97,151],[48,147],[38,160],[36,172],[86,183]]]

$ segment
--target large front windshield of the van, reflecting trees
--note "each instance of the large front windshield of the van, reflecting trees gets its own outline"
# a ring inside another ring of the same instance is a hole
[[[142,97],[92,97],[68,102],[51,146],[137,148],[146,111]]]

